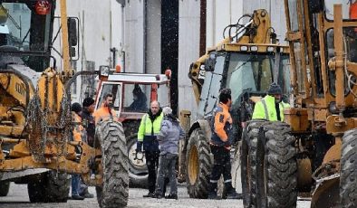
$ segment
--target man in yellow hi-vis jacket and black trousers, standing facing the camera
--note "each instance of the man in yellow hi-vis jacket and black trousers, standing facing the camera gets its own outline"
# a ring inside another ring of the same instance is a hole
[[[162,118],[163,114],[162,109],[159,107],[159,102],[152,101],[149,112],[141,118],[140,122],[136,152],[141,152],[143,146],[149,171],[149,194],[143,195],[143,197],[155,197],[156,168],[159,165],[159,142],[157,136],[161,128]]]

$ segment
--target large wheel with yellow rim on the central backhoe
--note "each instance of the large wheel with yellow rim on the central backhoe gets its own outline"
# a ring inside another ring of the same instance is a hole
[[[213,157],[201,128],[193,130],[186,153],[186,183],[190,198],[206,199]]]

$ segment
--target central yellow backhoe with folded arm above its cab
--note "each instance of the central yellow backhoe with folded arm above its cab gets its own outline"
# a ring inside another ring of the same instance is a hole
[[[288,47],[277,43],[274,32],[269,14],[264,9],[256,10],[242,16],[237,24],[228,25],[224,40],[191,64],[188,77],[198,104],[198,120],[190,125],[190,112],[181,111],[188,137],[180,143],[178,156],[178,179],[186,180],[191,198],[207,198],[213,165],[209,120],[219,90],[232,90],[236,156],[242,126],[252,116],[252,103],[264,96],[273,81],[289,91]]]

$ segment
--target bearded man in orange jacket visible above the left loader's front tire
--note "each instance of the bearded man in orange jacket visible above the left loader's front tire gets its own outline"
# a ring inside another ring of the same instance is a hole
[[[99,121],[107,120],[109,118],[117,119],[115,116],[115,111],[112,109],[113,95],[111,93],[107,93],[104,95],[103,99],[104,100],[101,104],[101,108],[95,110],[93,113],[95,124],[97,124]]]

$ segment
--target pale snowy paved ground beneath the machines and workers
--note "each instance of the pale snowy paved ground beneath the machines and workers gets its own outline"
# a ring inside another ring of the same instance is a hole
[[[91,187],[91,193],[95,194],[94,188]],[[143,194],[147,191],[143,189],[130,188],[129,208],[159,208],[159,207],[204,207],[204,208],[220,208],[220,207],[243,207],[242,200],[198,200],[190,199],[187,194],[186,187],[183,185],[178,186],[178,200],[167,199],[148,199],[142,198]],[[85,207],[85,208],[98,208],[96,198],[85,199],[83,201],[69,200],[68,203],[29,203],[27,195],[27,186],[25,184],[11,184],[10,192],[6,197],[0,197],[0,207],[4,208],[30,208],[30,207]],[[298,208],[310,207],[309,201],[299,201]]]

